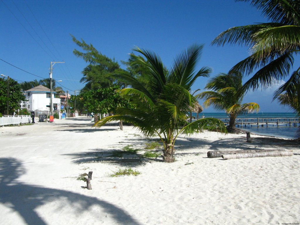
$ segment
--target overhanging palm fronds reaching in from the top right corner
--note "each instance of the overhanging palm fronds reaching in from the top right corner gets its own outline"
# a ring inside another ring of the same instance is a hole
[[[262,85],[263,88],[273,85],[280,79],[289,76],[293,66],[293,56],[300,51],[300,1],[295,0],[237,0],[250,1],[270,22],[254,25],[232,27],[213,41],[212,45],[224,46],[226,43],[250,47],[251,55],[236,64],[231,71],[246,75],[256,71],[244,83],[243,90]],[[297,74],[300,67],[293,74]],[[230,71],[230,72],[231,72]],[[283,85],[284,86],[284,85]],[[284,91],[280,87],[278,90]],[[274,98],[280,95],[276,91]],[[297,97],[298,104],[300,98]],[[299,112],[298,112],[299,113]]]

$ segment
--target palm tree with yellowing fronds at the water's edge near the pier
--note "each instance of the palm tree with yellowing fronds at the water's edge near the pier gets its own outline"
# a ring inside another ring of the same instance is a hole
[[[250,102],[242,104],[245,92],[242,92],[241,73],[220,73],[208,80],[204,91],[196,98],[205,99],[204,106],[212,105],[216,110],[225,110],[229,116],[228,131],[235,128],[235,119],[240,114],[258,112],[259,105]]]

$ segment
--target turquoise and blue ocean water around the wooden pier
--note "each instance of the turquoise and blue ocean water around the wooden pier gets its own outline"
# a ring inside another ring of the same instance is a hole
[[[196,118],[196,113],[192,114]],[[201,118],[202,116],[207,117],[213,117],[213,118],[228,118],[226,113],[199,113],[198,117]],[[295,113],[253,113],[253,114],[247,114],[247,115],[241,115],[238,116],[238,118],[297,118]],[[238,122],[238,121],[237,121]],[[283,137],[283,138],[293,138],[295,135],[295,132],[299,128],[299,124],[297,124],[297,127],[289,126],[289,125],[280,125],[277,127],[277,125],[269,125],[266,127],[265,125],[263,127],[259,126],[252,126],[246,125],[246,127],[241,126],[240,129],[250,131],[254,134],[261,134],[261,135],[268,135],[268,136],[274,136],[274,137]]]

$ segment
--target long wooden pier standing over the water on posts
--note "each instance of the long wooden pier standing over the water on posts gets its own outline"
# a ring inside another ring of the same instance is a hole
[[[217,118],[221,120],[225,126],[229,125],[229,118]],[[299,118],[238,118],[235,119],[235,126],[245,126],[246,125],[251,125],[252,126],[277,126],[279,127],[280,125],[286,125],[286,126],[294,126],[296,127],[297,124],[299,123],[300,125],[300,120]]]

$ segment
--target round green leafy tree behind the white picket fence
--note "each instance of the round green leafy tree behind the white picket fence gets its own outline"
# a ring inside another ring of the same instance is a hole
[[[9,79],[9,114],[16,112],[21,101],[25,101],[25,96],[21,91],[21,85],[13,79]],[[0,78],[0,113],[7,114],[7,79]]]

